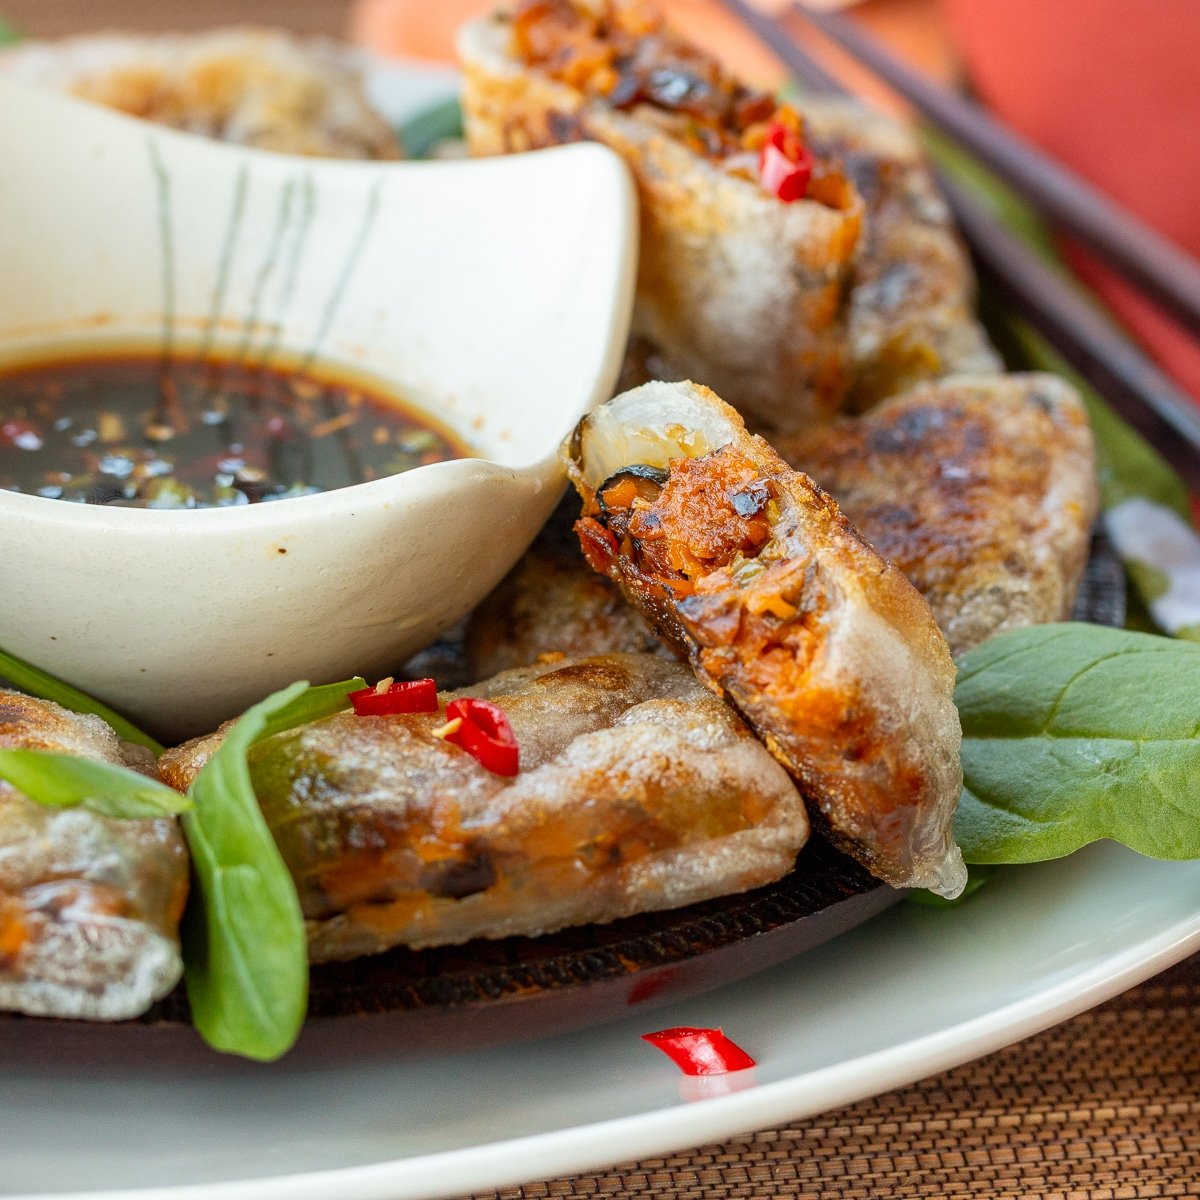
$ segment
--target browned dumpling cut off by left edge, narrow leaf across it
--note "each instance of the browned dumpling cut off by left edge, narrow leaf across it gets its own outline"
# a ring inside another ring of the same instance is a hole
[[[0,749],[154,773],[98,716],[0,691]],[[49,809],[0,781],[0,1009],[115,1021],[179,980],[187,852],[175,821]]]

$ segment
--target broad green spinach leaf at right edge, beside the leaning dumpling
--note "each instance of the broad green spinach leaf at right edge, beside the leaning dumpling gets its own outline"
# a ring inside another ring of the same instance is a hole
[[[1200,646],[1099,625],[1014,630],[964,655],[968,863],[1033,863],[1110,838],[1200,857]]]

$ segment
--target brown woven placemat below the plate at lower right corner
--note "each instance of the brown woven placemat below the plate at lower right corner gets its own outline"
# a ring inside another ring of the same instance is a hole
[[[1037,1037],[848,1108],[475,1200],[1200,1196],[1200,955]]]

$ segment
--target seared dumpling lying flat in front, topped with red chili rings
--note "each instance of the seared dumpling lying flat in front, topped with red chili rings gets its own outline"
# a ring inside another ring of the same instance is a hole
[[[252,752],[314,960],[538,935],[742,892],[791,870],[808,838],[786,772],[683,664],[563,659],[467,694],[508,716],[515,778],[434,737],[443,713],[340,714]],[[185,784],[218,742],[168,752],[166,778]]]

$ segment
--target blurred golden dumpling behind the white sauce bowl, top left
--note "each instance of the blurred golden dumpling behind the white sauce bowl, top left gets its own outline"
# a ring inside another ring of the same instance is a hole
[[[104,34],[30,42],[0,71],[109,108],[260,150],[330,158],[400,158],[362,89],[354,52],[282,30]]]

